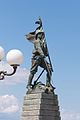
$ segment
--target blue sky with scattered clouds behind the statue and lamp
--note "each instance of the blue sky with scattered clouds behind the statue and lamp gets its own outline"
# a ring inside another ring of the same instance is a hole
[[[52,81],[59,97],[63,120],[80,119],[80,1],[79,0],[0,0],[0,46],[5,53],[16,48],[23,52],[24,63],[13,77],[0,81],[0,97],[13,101],[1,112],[0,120],[19,120],[33,45],[24,35],[35,30],[41,16],[54,73]],[[1,63],[2,64],[2,63]],[[3,66],[6,69],[4,59]],[[2,66],[1,68],[2,69]],[[9,68],[7,68],[9,69]],[[22,73],[22,74],[20,74]],[[5,102],[4,102],[5,103]],[[0,110],[3,103],[0,104]],[[19,110],[18,110],[19,107]],[[8,109],[9,110],[9,109]],[[16,114],[15,114],[16,113]],[[71,116],[72,115],[72,116]],[[14,117],[13,117],[14,116]]]

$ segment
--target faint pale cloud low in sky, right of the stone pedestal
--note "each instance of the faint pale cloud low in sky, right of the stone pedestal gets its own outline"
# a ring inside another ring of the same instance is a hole
[[[80,120],[80,112],[62,110],[61,120]]]

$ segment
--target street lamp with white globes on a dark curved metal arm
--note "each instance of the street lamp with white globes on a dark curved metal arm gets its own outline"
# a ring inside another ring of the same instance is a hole
[[[4,58],[4,49],[0,46],[0,61]],[[16,73],[17,67],[23,62],[23,54],[20,50],[13,49],[10,50],[6,55],[6,60],[10,66],[13,68],[12,73],[7,73],[7,71],[0,71],[0,80],[3,80],[5,76],[11,76]]]

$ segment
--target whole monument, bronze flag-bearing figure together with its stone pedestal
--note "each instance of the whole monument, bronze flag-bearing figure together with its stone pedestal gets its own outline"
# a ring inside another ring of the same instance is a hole
[[[40,17],[35,24],[38,24],[36,30],[26,35],[27,40],[33,43],[34,50],[21,120],[61,120],[58,96],[54,92],[55,87],[51,84],[53,67]],[[43,70],[33,81],[39,66]],[[46,84],[38,81],[44,71],[46,71]]]

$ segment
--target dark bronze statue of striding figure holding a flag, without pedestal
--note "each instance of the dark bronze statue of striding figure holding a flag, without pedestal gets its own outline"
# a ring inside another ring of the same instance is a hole
[[[30,69],[27,88],[28,90],[32,89],[33,86],[36,85],[38,79],[40,78],[40,76],[45,70],[47,72],[45,86],[54,88],[51,85],[51,76],[52,76],[53,68],[52,68],[52,64],[51,64],[51,60],[50,60],[50,56],[49,56],[49,52],[46,44],[45,33],[43,31],[41,18],[39,18],[39,20],[36,21],[35,24],[39,25],[36,28],[36,30],[26,35],[26,38],[34,44],[34,50],[32,53],[33,54],[32,66]],[[49,62],[46,60],[47,57],[49,59]],[[37,80],[34,82],[34,85],[32,85],[32,80],[38,70],[38,66],[43,68],[43,71],[41,72]]]

